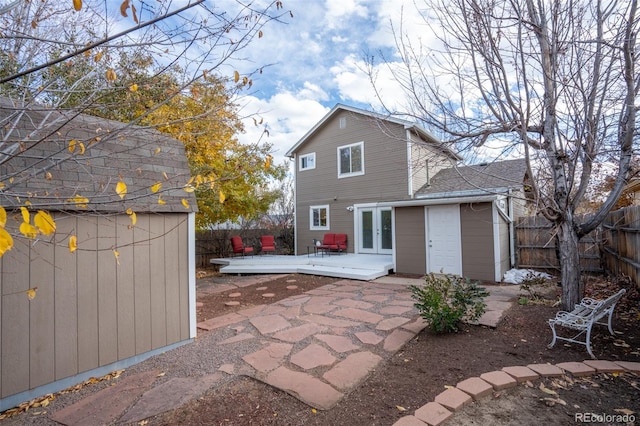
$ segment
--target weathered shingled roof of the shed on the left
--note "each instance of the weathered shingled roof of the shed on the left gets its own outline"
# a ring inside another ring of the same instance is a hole
[[[156,130],[0,98],[0,141],[4,207],[28,200],[49,210],[197,210],[194,194],[183,189],[191,175],[184,145]],[[127,186],[123,199],[115,190],[120,181]]]

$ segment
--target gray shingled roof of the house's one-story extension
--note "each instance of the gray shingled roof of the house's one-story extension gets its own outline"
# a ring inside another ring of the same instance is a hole
[[[521,187],[526,174],[527,162],[524,159],[451,167],[439,171],[417,191],[416,196],[455,196],[474,191],[491,192]]]

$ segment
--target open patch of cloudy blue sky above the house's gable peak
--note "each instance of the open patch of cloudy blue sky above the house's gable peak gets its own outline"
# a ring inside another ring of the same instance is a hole
[[[361,70],[363,57],[380,51],[393,58],[394,40],[390,20],[399,22],[414,9],[411,1],[399,0],[285,0],[285,24],[269,23],[263,37],[242,51],[234,63],[242,73],[269,65],[256,76],[251,90],[239,100],[241,114],[259,114],[269,128],[266,139],[273,144],[275,159],[284,154],[336,103],[365,109],[379,105],[367,75]],[[405,22],[405,30],[420,30]],[[230,71],[232,72],[232,71]],[[380,68],[380,87],[387,93],[393,82]],[[252,142],[262,128],[246,121],[240,139]]]

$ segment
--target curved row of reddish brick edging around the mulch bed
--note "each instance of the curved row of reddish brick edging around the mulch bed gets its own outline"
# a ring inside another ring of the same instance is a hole
[[[573,376],[590,376],[596,373],[631,372],[640,375],[640,362],[586,360],[583,362],[561,362],[558,364],[529,364],[527,366],[504,367],[502,370],[481,374],[459,382],[440,393],[432,402],[418,408],[413,415],[402,417],[394,426],[437,426],[455,411],[474,400],[516,387],[520,383],[541,377],[558,377],[566,373]]]

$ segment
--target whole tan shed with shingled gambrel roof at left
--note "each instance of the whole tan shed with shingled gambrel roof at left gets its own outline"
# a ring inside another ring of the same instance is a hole
[[[0,258],[0,411],[191,341],[196,200],[182,143],[7,99],[0,124],[14,239]],[[56,232],[22,237],[20,206],[49,212]]]

